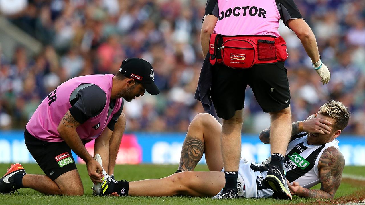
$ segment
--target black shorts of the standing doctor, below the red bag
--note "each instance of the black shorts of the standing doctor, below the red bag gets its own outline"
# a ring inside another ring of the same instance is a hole
[[[264,112],[278,112],[289,107],[290,90],[284,62],[254,65],[249,69],[211,66],[211,98],[218,117],[231,119],[245,103],[247,85]]]

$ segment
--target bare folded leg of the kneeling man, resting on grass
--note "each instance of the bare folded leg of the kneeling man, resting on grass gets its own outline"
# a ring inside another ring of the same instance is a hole
[[[84,194],[80,175],[77,169],[71,170],[52,181],[46,175],[26,174],[23,186],[44,194],[81,196]]]

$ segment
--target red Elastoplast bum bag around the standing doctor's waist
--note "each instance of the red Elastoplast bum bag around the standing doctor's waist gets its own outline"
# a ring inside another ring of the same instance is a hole
[[[275,63],[288,58],[287,45],[280,37],[223,36],[211,34],[210,63],[223,64],[234,69],[250,68],[255,64]]]

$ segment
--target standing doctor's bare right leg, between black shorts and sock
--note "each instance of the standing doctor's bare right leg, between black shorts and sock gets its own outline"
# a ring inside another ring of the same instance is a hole
[[[290,107],[276,113],[270,113],[270,146],[271,154],[285,155],[292,133],[292,119]]]

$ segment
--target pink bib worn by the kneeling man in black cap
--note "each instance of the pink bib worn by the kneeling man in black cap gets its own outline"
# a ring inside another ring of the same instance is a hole
[[[81,140],[98,138],[104,128],[118,112],[122,105],[122,98],[116,99],[114,109],[109,108],[110,94],[112,90],[112,74],[89,75],[72,78],[59,85],[48,97],[46,97],[32,115],[26,128],[28,132],[38,139],[48,142],[61,142],[57,127],[65,113],[71,108],[70,96],[82,84],[95,84],[104,90],[107,102],[103,111],[76,128]],[[98,100],[98,99],[95,99]]]

